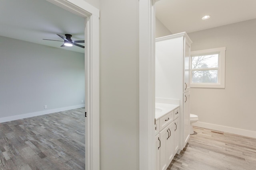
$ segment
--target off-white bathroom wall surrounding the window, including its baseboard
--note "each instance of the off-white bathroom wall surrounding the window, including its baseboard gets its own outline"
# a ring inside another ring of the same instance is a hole
[[[192,51],[226,47],[226,88],[191,89],[196,125],[256,137],[255,28],[256,19],[188,34]]]

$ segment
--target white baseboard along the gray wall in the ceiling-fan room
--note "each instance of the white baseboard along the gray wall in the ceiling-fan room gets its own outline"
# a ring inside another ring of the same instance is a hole
[[[44,111],[37,111],[37,112],[26,113],[26,114],[22,114],[22,115],[2,117],[2,118],[0,118],[0,123],[7,122],[7,121],[18,120],[18,119],[24,119],[24,118],[28,118],[28,117],[46,115],[46,114],[49,114],[49,113],[56,113],[56,112],[59,112],[59,111],[78,109],[78,108],[81,108],[81,107],[85,107],[85,104],[80,104],[80,105],[76,105],[76,106],[62,107],[62,108],[57,108],[57,109],[49,109],[49,110],[44,110]]]

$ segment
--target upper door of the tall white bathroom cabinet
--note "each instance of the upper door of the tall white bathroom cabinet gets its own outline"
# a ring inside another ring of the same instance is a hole
[[[183,92],[188,92],[190,89],[189,78],[190,78],[190,43],[184,38],[184,84]]]

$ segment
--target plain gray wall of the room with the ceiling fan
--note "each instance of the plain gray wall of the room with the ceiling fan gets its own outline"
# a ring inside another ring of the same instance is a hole
[[[0,36],[0,118],[81,105],[84,54]]]

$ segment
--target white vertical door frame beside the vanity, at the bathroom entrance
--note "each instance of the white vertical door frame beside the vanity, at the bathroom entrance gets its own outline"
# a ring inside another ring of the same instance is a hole
[[[139,95],[140,170],[154,170],[155,153],[155,0],[140,0]]]

